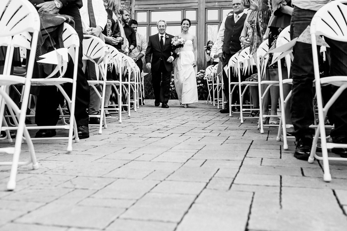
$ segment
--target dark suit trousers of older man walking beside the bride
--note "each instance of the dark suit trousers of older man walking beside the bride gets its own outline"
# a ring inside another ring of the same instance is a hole
[[[170,80],[171,71],[166,70],[164,61],[162,61],[158,70],[152,70],[152,86],[156,103],[169,102]]]

